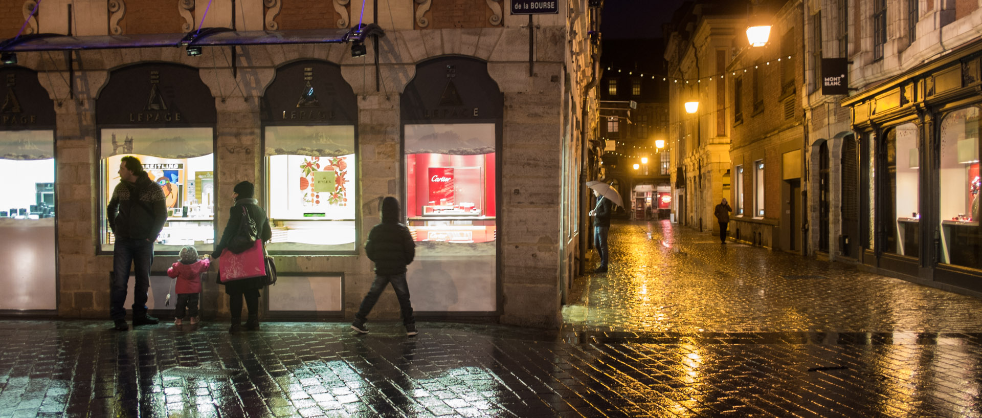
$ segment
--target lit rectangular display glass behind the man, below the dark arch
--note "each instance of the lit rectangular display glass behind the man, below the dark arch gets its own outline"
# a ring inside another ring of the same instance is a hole
[[[211,128],[103,129],[100,138],[102,220],[100,248],[112,251],[116,237],[105,209],[120,183],[123,157],[139,159],[150,180],[160,184],[167,203],[167,222],[154,251],[180,251],[194,245],[210,251],[215,241],[214,151]]]

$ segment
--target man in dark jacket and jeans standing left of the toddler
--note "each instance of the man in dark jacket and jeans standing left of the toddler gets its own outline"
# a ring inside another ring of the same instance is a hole
[[[150,264],[153,242],[167,222],[167,204],[160,184],[143,171],[139,160],[123,157],[120,183],[106,207],[109,228],[116,236],[113,245],[113,280],[109,286],[109,316],[117,331],[130,329],[126,323],[126,293],[130,282],[130,265],[134,266],[136,284],[133,295],[133,326],[153,325],[158,321],[146,313],[150,288]]]

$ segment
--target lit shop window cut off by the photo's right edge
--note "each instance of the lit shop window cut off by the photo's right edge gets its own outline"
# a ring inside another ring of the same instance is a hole
[[[979,109],[957,110],[941,124],[941,262],[982,269],[979,228]]]

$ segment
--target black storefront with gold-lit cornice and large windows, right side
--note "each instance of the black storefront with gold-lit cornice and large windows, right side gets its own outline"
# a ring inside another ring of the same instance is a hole
[[[849,97],[863,264],[982,290],[982,42]]]

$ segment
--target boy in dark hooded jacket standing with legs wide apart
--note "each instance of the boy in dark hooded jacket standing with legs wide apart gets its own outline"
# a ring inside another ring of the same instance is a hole
[[[415,256],[415,247],[409,228],[399,223],[399,200],[391,196],[382,199],[382,223],[371,229],[368,240],[365,241],[365,254],[375,262],[375,282],[355,313],[353,330],[360,334],[368,333],[365,327],[368,312],[375,306],[385,286],[391,283],[392,289],[396,290],[396,298],[399,299],[406,335],[411,337],[417,334],[412,305],[409,304],[409,285],[406,283],[406,266]]]

